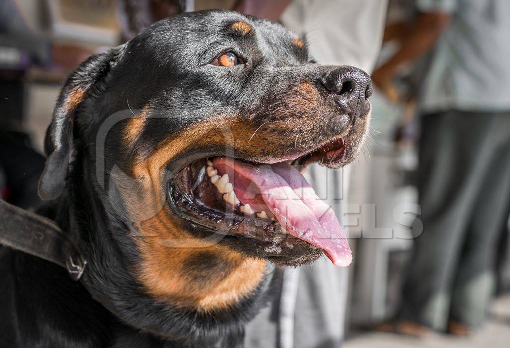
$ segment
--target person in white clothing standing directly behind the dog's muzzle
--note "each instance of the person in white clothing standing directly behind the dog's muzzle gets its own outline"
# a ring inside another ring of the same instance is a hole
[[[239,1],[234,10],[280,20],[305,34],[320,64],[352,65],[370,73],[379,54],[387,1]],[[349,167],[325,170],[311,165],[308,174],[317,192],[342,218]],[[355,256],[354,256],[355,257]],[[311,266],[286,269],[282,294],[248,324],[248,347],[338,347],[343,340],[348,269],[321,259]]]

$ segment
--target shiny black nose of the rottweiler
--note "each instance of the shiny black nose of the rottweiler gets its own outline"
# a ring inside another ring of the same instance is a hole
[[[353,117],[368,114],[372,83],[363,70],[347,65],[335,67],[324,73],[321,82],[342,111]]]

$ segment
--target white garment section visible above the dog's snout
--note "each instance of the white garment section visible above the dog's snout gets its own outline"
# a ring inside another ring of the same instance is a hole
[[[307,36],[319,64],[352,65],[370,74],[381,48],[387,11],[388,0],[294,0],[282,22]]]

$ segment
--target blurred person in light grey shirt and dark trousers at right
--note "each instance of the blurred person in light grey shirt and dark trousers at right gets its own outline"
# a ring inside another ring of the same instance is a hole
[[[388,89],[431,53],[420,90],[418,191],[423,233],[393,330],[466,335],[486,317],[510,205],[510,2],[418,0],[388,28],[399,51],[372,74]]]

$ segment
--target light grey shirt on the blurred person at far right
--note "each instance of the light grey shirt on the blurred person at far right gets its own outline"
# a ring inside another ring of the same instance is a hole
[[[510,1],[418,0],[451,15],[432,54],[422,112],[510,111]]]

